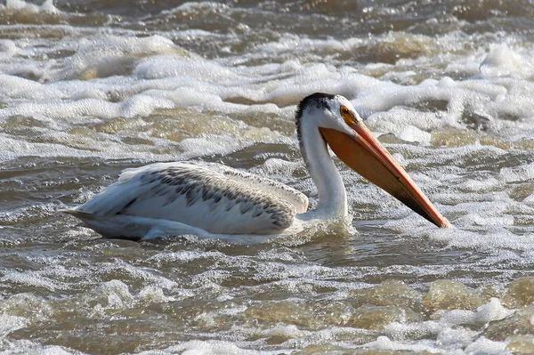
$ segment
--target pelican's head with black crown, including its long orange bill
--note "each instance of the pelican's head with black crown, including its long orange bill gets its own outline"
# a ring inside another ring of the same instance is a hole
[[[388,192],[438,227],[449,222],[419,190],[408,173],[364,125],[352,103],[341,95],[313,93],[296,112],[297,134],[305,125],[317,127],[320,136],[344,164]],[[303,140],[300,140],[303,144]]]

